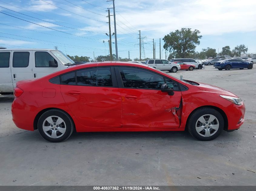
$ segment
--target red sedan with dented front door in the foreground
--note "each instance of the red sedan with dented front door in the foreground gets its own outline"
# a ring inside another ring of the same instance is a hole
[[[148,65],[98,62],[17,83],[15,125],[51,142],[74,131],[184,131],[208,141],[244,123],[244,103],[222,88]]]

